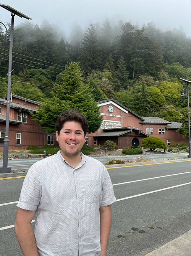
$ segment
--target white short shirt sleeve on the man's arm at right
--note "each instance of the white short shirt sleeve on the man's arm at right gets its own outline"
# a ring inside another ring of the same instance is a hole
[[[116,198],[113,191],[112,182],[107,169],[104,167],[102,180],[102,202],[100,206],[111,205]]]

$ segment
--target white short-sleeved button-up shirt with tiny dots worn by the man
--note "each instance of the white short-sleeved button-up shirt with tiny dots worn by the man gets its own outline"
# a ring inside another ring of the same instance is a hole
[[[23,182],[18,207],[36,210],[34,235],[40,256],[98,256],[100,206],[115,201],[104,165],[81,153],[73,168],[60,151],[36,162]]]

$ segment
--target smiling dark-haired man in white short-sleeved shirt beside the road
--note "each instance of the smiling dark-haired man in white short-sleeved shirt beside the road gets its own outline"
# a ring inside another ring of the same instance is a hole
[[[87,128],[76,110],[62,112],[56,122],[60,151],[26,175],[15,220],[24,256],[106,255],[115,196],[104,165],[80,152]]]

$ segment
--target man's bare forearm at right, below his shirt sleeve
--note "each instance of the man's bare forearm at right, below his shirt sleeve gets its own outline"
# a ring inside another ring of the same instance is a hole
[[[106,206],[107,210],[100,211],[100,244],[102,253],[100,256],[105,256],[107,252],[107,243],[110,235],[112,222],[112,213],[110,205]]]

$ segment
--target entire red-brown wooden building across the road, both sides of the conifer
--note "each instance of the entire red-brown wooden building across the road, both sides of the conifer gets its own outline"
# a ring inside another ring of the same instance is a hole
[[[29,145],[42,147],[45,144],[58,145],[55,134],[48,134],[31,119],[30,111],[37,112],[39,102],[17,95],[10,102],[9,149],[26,149]],[[141,117],[114,99],[100,101],[100,115],[103,117],[100,128],[87,134],[86,144],[104,145],[106,140],[114,141],[119,149],[141,146],[142,139],[148,136],[159,137],[166,145],[185,141],[177,132],[181,123],[168,122],[159,117]],[[0,150],[5,139],[6,100],[0,99]]]

